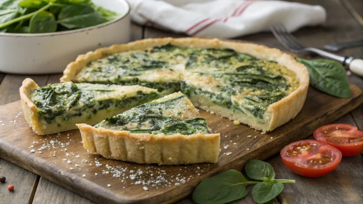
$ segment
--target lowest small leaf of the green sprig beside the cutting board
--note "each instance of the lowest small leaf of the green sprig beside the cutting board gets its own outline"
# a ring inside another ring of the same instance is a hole
[[[260,182],[252,188],[252,197],[256,203],[266,203],[276,197],[284,189],[280,181]]]

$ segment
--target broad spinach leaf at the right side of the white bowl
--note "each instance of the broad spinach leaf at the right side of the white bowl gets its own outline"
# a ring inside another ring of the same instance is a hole
[[[58,22],[68,29],[86,28],[107,20],[87,5],[68,5],[58,15]]]

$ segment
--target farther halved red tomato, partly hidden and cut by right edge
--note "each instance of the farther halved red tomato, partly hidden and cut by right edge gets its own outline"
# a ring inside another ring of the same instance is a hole
[[[336,147],[343,156],[355,156],[363,151],[363,131],[347,124],[330,124],[314,131],[314,138]]]

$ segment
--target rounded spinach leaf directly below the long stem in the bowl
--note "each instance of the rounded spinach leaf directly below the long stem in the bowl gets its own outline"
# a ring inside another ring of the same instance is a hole
[[[53,13],[41,11],[30,19],[29,33],[51,33],[57,30]]]

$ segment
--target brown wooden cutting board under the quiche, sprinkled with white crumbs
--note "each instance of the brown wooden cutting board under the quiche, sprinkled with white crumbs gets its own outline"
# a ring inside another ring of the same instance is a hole
[[[336,98],[310,87],[297,117],[268,134],[201,110],[212,131],[221,133],[219,162],[177,166],[88,154],[78,130],[38,136],[16,101],[0,106],[0,157],[97,203],[172,203],[189,195],[204,178],[228,169],[242,170],[250,159],[264,160],[355,109],[362,103],[362,90],[350,87],[351,98]]]

